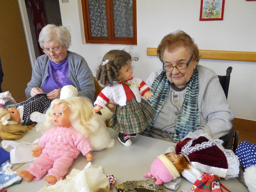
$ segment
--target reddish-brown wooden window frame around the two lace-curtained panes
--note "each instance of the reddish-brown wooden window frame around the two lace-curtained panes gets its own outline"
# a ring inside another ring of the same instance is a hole
[[[133,37],[115,37],[113,0],[105,0],[105,2],[108,36],[93,37],[91,35],[89,3],[88,0],[81,0],[84,20],[85,42],[89,44],[137,45],[136,0],[132,0]]]

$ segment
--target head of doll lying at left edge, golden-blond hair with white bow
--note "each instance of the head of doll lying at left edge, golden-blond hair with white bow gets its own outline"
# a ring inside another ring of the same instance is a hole
[[[31,130],[30,126],[21,125],[12,110],[0,108],[0,140],[17,140]]]

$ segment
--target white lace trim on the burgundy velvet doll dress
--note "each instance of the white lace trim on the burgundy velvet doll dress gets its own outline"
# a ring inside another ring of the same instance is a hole
[[[191,136],[192,135],[192,136]],[[201,144],[196,144],[194,147],[191,147],[193,140],[197,139],[200,136],[206,137],[209,141],[203,142]],[[228,170],[225,179],[237,177],[239,173],[239,160],[234,152],[230,149],[225,149],[221,144],[223,143],[220,139],[213,140],[207,133],[200,134],[199,136],[193,136],[192,132],[189,132],[185,138],[191,138],[181,149],[181,152],[189,155],[192,152],[209,148],[214,145],[220,148],[221,151],[225,154],[228,161]],[[184,139],[185,139],[184,138]]]

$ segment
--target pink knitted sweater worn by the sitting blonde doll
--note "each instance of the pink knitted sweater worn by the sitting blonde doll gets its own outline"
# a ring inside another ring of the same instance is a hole
[[[85,156],[92,151],[90,141],[73,127],[55,127],[47,130],[38,141],[42,153],[76,158],[80,151]]]

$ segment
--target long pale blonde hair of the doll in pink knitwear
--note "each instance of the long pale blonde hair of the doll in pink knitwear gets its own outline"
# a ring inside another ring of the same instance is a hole
[[[52,101],[50,108],[46,111],[44,123],[36,125],[37,131],[46,131],[54,128],[52,124],[53,109],[60,105],[60,109],[69,108],[71,110],[70,123],[76,131],[82,133],[88,138],[92,133],[99,131],[103,126],[102,117],[98,114],[93,115],[92,102],[85,97],[69,97],[66,99],[55,99]]]

